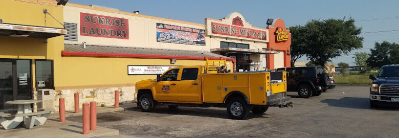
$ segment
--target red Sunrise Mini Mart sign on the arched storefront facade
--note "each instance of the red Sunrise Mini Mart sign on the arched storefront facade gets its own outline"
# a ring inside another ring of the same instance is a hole
[[[234,22],[233,22],[234,23]],[[244,37],[258,40],[267,40],[266,31],[243,28],[239,26],[231,26],[212,22],[212,34],[229,35],[236,37]]]

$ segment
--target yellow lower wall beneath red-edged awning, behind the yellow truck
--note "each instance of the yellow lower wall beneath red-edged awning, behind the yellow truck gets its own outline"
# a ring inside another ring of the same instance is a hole
[[[205,65],[204,60],[181,60],[170,64],[169,59],[62,57],[56,69],[55,89],[134,86],[137,81],[154,79],[156,75],[127,75],[127,65]],[[230,70],[232,70],[232,62]]]

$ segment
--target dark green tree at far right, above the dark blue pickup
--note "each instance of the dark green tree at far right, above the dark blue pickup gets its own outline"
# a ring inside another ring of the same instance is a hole
[[[399,54],[399,44],[383,41],[375,42],[374,49],[371,49],[367,64],[371,67],[382,67],[387,64],[397,64]]]

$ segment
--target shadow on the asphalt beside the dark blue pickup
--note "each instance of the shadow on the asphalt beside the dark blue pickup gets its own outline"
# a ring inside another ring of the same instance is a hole
[[[344,97],[341,99],[325,99],[320,102],[327,103],[329,106],[355,108],[355,109],[376,109],[376,110],[398,110],[399,106],[382,104],[380,108],[371,108],[369,98]]]

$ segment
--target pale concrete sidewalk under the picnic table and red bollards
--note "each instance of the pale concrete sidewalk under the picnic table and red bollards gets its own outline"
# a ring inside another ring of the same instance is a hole
[[[125,110],[136,107],[136,103],[119,105],[114,107],[97,107],[97,113]],[[65,117],[82,116],[82,111],[74,113],[65,111]],[[35,126],[33,129],[26,129],[25,126],[18,126],[15,129],[5,130],[0,126],[0,137],[93,137],[93,136],[117,136],[119,130],[97,126],[97,130],[90,131],[90,134],[82,134],[82,123],[66,120],[59,122],[59,112],[52,113],[45,125]],[[124,136],[122,136],[124,137]]]

